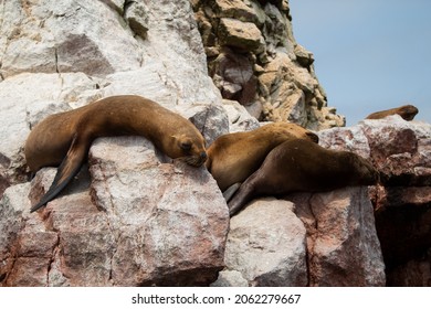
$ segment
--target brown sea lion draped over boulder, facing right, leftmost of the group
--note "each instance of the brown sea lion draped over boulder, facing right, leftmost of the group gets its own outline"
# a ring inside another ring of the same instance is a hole
[[[202,135],[180,115],[140,96],[103,98],[51,115],[30,132],[24,150],[30,170],[60,164],[52,185],[31,212],[53,200],[80,171],[94,139],[124,135],[144,136],[170,158],[195,167],[207,160]]]

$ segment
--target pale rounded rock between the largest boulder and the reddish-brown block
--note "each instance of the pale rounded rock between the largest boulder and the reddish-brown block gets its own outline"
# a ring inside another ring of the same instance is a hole
[[[250,286],[306,286],[305,259],[305,228],[292,203],[256,200],[231,219],[225,265]]]

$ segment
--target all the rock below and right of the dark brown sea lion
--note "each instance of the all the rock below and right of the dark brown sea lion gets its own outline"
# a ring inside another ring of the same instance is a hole
[[[271,274],[278,285],[430,286],[431,125],[392,116],[318,135],[323,147],[371,160],[380,184],[251,202],[231,220],[227,268],[214,285],[270,285],[260,279]],[[263,225],[270,226],[262,232]],[[269,235],[296,241],[274,249]],[[283,260],[275,253],[293,244],[283,258],[298,260],[297,267],[267,269]]]

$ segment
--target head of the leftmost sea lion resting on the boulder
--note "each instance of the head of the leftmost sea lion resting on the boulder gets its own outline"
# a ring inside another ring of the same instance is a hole
[[[201,135],[176,135],[171,137],[171,153],[168,153],[172,159],[179,159],[186,163],[200,167],[207,161],[206,141]]]

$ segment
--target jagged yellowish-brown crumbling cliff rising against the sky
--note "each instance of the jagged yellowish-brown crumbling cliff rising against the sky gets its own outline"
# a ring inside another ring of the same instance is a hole
[[[209,73],[223,98],[250,106],[261,120],[318,130],[344,126],[327,107],[313,54],[293,36],[288,2],[192,1]]]

